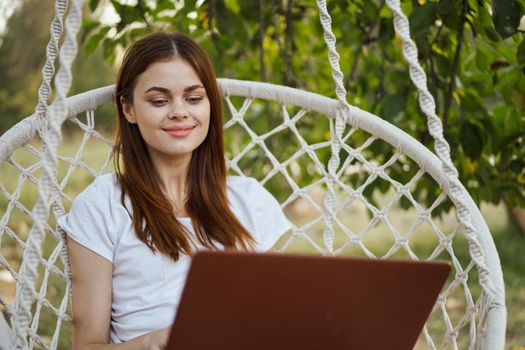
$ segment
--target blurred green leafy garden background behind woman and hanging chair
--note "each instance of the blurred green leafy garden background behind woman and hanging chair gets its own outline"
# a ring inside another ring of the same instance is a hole
[[[402,1],[418,45],[419,60],[436,99],[437,113],[443,121],[445,137],[451,145],[452,159],[462,183],[482,208],[500,254],[509,310],[509,349],[525,346],[525,259],[521,258],[525,249],[524,3],[523,0]],[[349,102],[395,124],[433,149],[415,88],[408,78],[407,63],[401,55],[400,39],[392,27],[390,10],[379,0],[334,0],[328,1],[328,7]],[[0,21],[3,26],[0,28],[0,134],[34,112],[53,11],[51,2],[43,0],[0,3],[3,18],[3,22]],[[160,29],[189,33],[208,52],[219,77],[266,81],[335,96],[314,1],[90,0],[86,1],[84,16],[70,94],[112,84],[124,48],[140,35]],[[251,116],[253,130],[262,132],[282,122],[275,106],[263,106],[260,110],[264,111],[265,118],[258,118],[262,112]],[[110,106],[97,111],[97,125],[108,138],[111,138],[113,115]],[[329,137],[328,123],[318,122],[315,117],[303,118],[300,126],[309,143]],[[238,154],[247,144],[247,135],[242,129],[234,128],[226,137],[230,142],[228,155]],[[367,137],[356,133],[352,142],[362,144]],[[61,152],[65,157],[74,157],[69,153],[82,143],[78,124],[66,123],[64,138]],[[278,150],[283,158],[289,157],[297,146],[289,142],[290,139],[290,135],[279,134],[268,140],[268,147]],[[89,143],[90,151],[82,160],[99,169],[101,154],[107,154],[108,148],[96,139]],[[39,144],[34,146],[38,148]],[[385,143],[374,142],[365,153],[368,159],[382,164],[395,150]],[[326,164],[329,148],[321,149],[318,156]],[[342,155],[343,160],[345,156]],[[242,160],[240,167],[245,174],[262,179],[265,167],[256,164],[264,163],[263,158],[264,153],[255,149]],[[25,166],[36,161],[27,151],[16,154],[14,159]],[[309,168],[310,163],[297,163],[295,180],[301,187],[318,178],[318,173]],[[65,176],[67,162],[62,166],[61,176]],[[2,184],[7,192],[13,193],[19,172],[11,165],[2,165],[1,171]],[[401,162],[389,171],[402,183],[414,175],[413,171],[405,171]],[[39,172],[34,175],[38,176]],[[75,171],[69,181],[69,195],[74,197],[91,180],[89,172]],[[346,180],[354,187],[363,181],[357,175]],[[265,185],[280,200],[289,194],[283,179],[272,179]],[[391,190],[388,184],[378,182],[368,187],[364,195],[380,206]],[[428,176],[418,181],[411,191],[426,207],[440,194]],[[37,198],[36,187],[25,186],[22,197],[20,201],[30,209]],[[1,215],[7,203],[1,198]],[[287,214],[299,224],[301,211],[297,207],[290,206]],[[410,203],[401,200],[396,203],[394,216],[409,218],[412,215],[407,210],[409,207]],[[23,237],[31,220],[23,211],[17,213],[9,223]],[[354,211],[345,220],[356,222],[362,214]],[[365,211],[364,217],[369,214]],[[450,202],[438,206],[434,214],[445,226],[450,226],[447,223],[447,218],[453,217]],[[401,229],[402,232],[407,227]],[[381,243],[385,234],[379,231],[367,244],[381,255],[387,248]],[[312,229],[311,237],[319,243],[322,241],[318,229]],[[413,249],[418,256],[428,256],[435,237],[425,233],[421,233],[421,237],[414,242]],[[285,244],[287,238],[281,244]],[[48,241],[45,256],[52,253],[55,245],[54,238],[48,237]],[[289,249],[308,251],[311,246],[296,244]],[[5,234],[0,252],[15,265],[20,258],[16,242]],[[457,242],[455,252],[460,260],[468,261],[464,240]],[[13,292],[8,280],[0,279],[3,296]],[[63,287],[59,282],[56,285],[52,293],[61,295]],[[40,327],[45,329],[42,332],[52,334],[53,315],[43,313]],[[50,321],[45,322],[45,317]],[[62,347],[68,348],[69,327],[64,327],[62,332]]]

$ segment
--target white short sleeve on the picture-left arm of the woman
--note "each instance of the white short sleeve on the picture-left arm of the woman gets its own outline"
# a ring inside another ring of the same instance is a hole
[[[117,216],[122,213],[115,212],[111,186],[107,179],[97,178],[77,196],[58,224],[71,239],[113,262]]]

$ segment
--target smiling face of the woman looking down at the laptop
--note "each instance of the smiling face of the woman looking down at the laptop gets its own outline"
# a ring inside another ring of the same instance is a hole
[[[154,161],[191,157],[208,133],[210,101],[204,84],[181,58],[150,65],[137,80],[133,103],[121,104]]]

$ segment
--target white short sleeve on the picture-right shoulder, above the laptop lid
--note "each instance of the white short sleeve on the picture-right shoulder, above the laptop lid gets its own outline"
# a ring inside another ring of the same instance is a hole
[[[264,252],[290,230],[291,225],[277,199],[257,180],[251,179],[250,201],[254,203],[252,215],[255,223],[256,250]]]

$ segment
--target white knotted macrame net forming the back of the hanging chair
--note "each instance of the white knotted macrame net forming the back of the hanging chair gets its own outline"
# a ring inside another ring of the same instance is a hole
[[[466,252],[464,230],[453,209],[443,217],[433,215],[440,206],[451,205],[439,186],[436,185],[436,193],[428,195],[431,200],[426,198],[427,204],[412,195],[418,182],[429,177],[428,173],[389,143],[349,127],[342,137],[344,161],[334,191],[333,243],[327,246],[323,198],[328,188],[326,162],[331,151],[327,133],[333,118],[278,101],[232,95],[225,97],[225,106],[226,152],[231,173],[255,176],[273,190],[294,226],[293,232],[280,241],[279,250],[451,261],[453,279],[443,289],[418,348],[464,349],[478,344],[478,338],[484,334],[483,328],[478,327],[484,312],[480,309],[484,294],[478,270]],[[69,130],[76,128],[82,133],[81,137],[65,141],[57,153],[57,182],[66,209],[86,183],[111,171],[111,133],[104,127],[97,129],[99,123],[96,113],[88,111],[65,124]],[[314,123],[324,125],[320,135],[309,134]],[[282,152],[283,140],[287,142],[286,154]],[[0,262],[15,279],[29,226],[34,221],[30,208],[43,171],[39,146],[40,141],[35,138],[15,150],[0,168],[1,197],[7,203],[0,229]],[[376,149],[382,150],[385,157],[378,158]],[[413,177],[401,183],[400,172]],[[6,187],[13,183],[8,179],[14,177],[18,177],[16,186]],[[373,186],[379,186],[384,195],[371,203],[365,194]],[[401,209],[406,205],[410,209]],[[30,339],[37,348],[48,348],[55,339],[51,347],[58,345],[61,327],[62,338],[67,339],[71,332],[67,273],[60,259],[62,240],[55,222],[52,215],[45,226],[47,234],[33,292],[37,302],[31,310]],[[10,254],[6,255],[8,251]],[[12,311],[11,300],[2,303]],[[62,325],[62,321],[66,324]],[[60,348],[67,347],[64,344]]]

